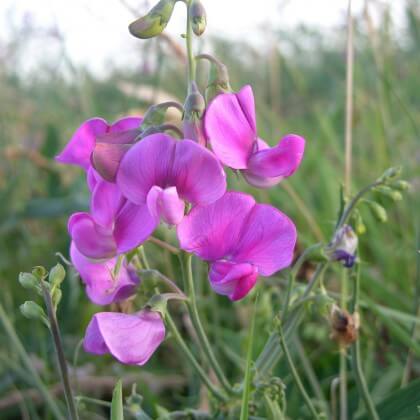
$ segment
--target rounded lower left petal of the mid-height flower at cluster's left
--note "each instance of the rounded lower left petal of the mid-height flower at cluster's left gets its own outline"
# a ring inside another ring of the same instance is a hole
[[[112,231],[98,225],[90,214],[72,214],[68,230],[77,249],[86,257],[102,259],[116,254]]]

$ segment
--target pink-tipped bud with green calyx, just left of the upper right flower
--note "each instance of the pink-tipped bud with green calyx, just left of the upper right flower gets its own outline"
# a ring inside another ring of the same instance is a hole
[[[194,140],[206,146],[202,117],[206,103],[195,82],[191,83],[188,96],[184,104],[184,118],[182,128],[184,138]]]

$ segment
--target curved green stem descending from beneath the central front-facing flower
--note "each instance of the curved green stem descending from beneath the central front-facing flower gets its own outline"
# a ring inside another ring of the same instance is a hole
[[[218,361],[216,360],[216,357],[213,353],[213,350],[210,346],[207,335],[204,331],[203,325],[201,324],[200,317],[198,315],[197,299],[195,295],[194,279],[193,279],[192,267],[191,267],[192,256],[191,254],[185,253],[184,258],[182,258],[181,260],[183,262],[182,270],[183,270],[183,275],[185,279],[184,280],[185,288],[186,288],[187,296],[189,298],[186,304],[188,306],[188,311],[190,313],[192,324],[194,326],[194,329],[197,332],[197,337],[204,351],[204,354],[206,355],[211,367],[213,368],[214,373],[217,376],[217,379],[220,381],[220,384],[222,385],[223,389],[225,389],[229,394],[231,394],[233,392],[232,387],[229,384],[228,380],[226,379],[226,376],[223,373],[223,370],[220,367]]]

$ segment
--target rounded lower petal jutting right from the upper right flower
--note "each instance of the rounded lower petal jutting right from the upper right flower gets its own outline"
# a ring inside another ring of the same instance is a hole
[[[304,150],[305,140],[289,134],[276,147],[253,153],[244,173],[258,177],[288,177],[299,167]]]

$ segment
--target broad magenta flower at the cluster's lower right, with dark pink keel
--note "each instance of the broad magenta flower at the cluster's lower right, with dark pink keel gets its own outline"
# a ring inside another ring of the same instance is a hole
[[[214,291],[231,300],[246,296],[259,275],[290,265],[296,243],[295,225],[286,215],[239,192],[195,207],[177,233],[182,249],[210,262]]]

